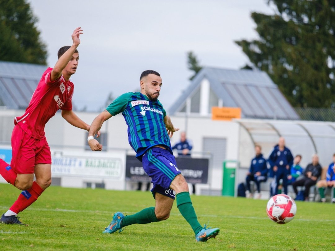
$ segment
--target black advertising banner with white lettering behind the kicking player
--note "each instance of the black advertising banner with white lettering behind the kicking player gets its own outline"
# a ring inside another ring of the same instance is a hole
[[[177,157],[177,168],[188,183],[207,184],[208,159]],[[126,157],[126,179],[130,181],[150,182],[151,178],[144,172],[142,163],[134,155]]]

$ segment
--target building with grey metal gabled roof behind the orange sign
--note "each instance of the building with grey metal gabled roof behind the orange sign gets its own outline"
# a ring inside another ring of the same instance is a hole
[[[213,106],[240,107],[242,118],[299,119],[265,72],[210,67],[196,75],[169,112],[210,116]]]

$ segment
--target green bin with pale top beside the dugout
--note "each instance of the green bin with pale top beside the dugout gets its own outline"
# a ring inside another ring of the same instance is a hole
[[[222,195],[235,196],[235,176],[237,168],[236,160],[223,162]]]

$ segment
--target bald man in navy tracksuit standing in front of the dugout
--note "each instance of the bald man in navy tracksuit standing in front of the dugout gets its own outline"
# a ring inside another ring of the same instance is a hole
[[[285,139],[283,137],[279,138],[278,145],[274,147],[270,154],[269,162],[276,181],[275,194],[278,194],[280,179],[283,180],[284,193],[287,194],[287,175],[290,173],[290,166],[293,164],[293,156],[291,151],[285,147]]]

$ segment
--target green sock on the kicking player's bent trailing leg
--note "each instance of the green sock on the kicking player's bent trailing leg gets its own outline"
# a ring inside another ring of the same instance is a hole
[[[155,208],[154,207],[148,207],[144,208],[142,211],[133,214],[133,215],[127,215],[125,218],[123,218],[121,222],[121,227],[129,226],[132,224],[147,224],[151,222],[157,222],[157,218],[155,215]]]

